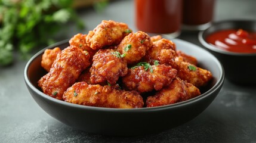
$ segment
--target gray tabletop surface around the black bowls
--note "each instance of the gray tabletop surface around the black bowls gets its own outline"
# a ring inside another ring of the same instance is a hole
[[[218,0],[214,21],[256,20],[256,1]],[[80,12],[87,33],[101,20],[134,24],[133,1],[113,1],[104,13]],[[74,26],[70,37],[78,33]],[[202,46],[197,32],[182,32],[180,39]],[[246,63],[245,63],[246,64]],[[195,119],[155,135],[135,137],[102,136],[64,125],[43,111],[30,96],[23,79],[26,61],[0,67],[0,142],[256,142],[256,88],[225,80],[217,98]]]

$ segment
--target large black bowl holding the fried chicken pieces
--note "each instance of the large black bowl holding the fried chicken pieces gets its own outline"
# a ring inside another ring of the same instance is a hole
[[[192,43],[173,39],[177,48],[194,55],[199,65],[213,74],[209,86],[202,89],[202,95],[172,105],[152,108],[117,109],[77,105],[51,98],[38,87],[37,81],[45,71],[40,66],[44,50],[35,54],[26,64],[24,80],[33,99],[55,119],[73,128],[104,135],[131,136],[158,133],[192,120],[214,100],[224,82],[223,67],[212,54]],[[47,48],[66,48],[67,41]]]

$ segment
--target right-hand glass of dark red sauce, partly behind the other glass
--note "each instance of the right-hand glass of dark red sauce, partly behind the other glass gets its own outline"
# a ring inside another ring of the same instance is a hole
[[[205,30],[211,26],[215,0],[183,0],[183,27]]]

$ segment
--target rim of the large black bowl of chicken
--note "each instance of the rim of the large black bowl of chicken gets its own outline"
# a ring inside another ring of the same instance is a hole
[[[172,39],[172,40],[193,44],[193,43],[190,43],[190,42],[187,42],[187,41],[183,41],[181,39]],[[214,55],[209,53],[209,54],[212,55],[212,58],[215,61],[215,63],[217,63],[218,69],[220,69],[220,78],[216,81],[215,85],[212,86],[208,91],[206,91],[203,94],[199,95],[198,97],[192,98],[190,100],[186,100],[186,101],[182,101],[182,102],[177,102],[175,104],[162,105],[162,106],[159,106],[159,107],[150,107],[150,108],[147,108],[147,107],[143,107],[143,108],[92,107],[92,106],[88,106],[88,105],[79,105],[79,104],[73,104],[73,103],[70,103],[70,102],[65,102],[65,101],[62,101],[62,100],[57,100],[57,99],[55,99],[53,97],[50,97],[50,96],[44,94],[43,92],[41,92],[38,88],[36,88],[30,82],[29,76],[28,76],[28,69],[29,69],[30,64],[32,64],[32,62],[35,60],[35,58],[38,57],[39,55],[41,55],[45,51],[45,49],[53,48],[53,47],[55,47],[57,45],[64,44],[64,43],[66,43],[68,41],[69,41],[69,39],[66,39],[64,41],[60,41],[60,42],[54,43],[53,45],[50,45],[50,46],[47,46],[46,48],[41,49],[39,52],[37,52],[35,55],[33,55],[29,59],[29,61],[27,61],[27,64],[26,64],[26,66],[24,68],[24,81],[25,81],[26,85],[29,86],[30,89],[32,89],[34,92],[36,92],[36,94],[37,94],[36,96],[39,95],[42,98],[44,98],[45,100],[50,100],[51,102],[55,102],[57,104],[61,104],[61,105],[67,106],[67,107],[79,108],[79,109],[82,109],[82,110],[107,111],[107,112],[117,112],[117,113],[119,113],[119,112],[132,112],[132,113],[137,113],[138,112],[138,113],[141,113],[141,112],[161,111],[161,110],[166,110],[168,108],[181,108],[181,107],[187,106],[189,104],[193,104],[195,102],[198,102],[199,100],[202,100],[203,98],[208,97],[212,92],[215,92],[219,88],[221,88],[221,86],[224,83],[224,69],[223,69],[223,66],[220,63],[220,61],[218,61],[217,58],[214,57]],[[201,48],[198,45],[193,44],[193,46],[195,46],[195,48],[200,48],[203,51],[206,51],[205,49]],[[208,51],[206,51],[206,52],[208,52]],[[32,97],[33,97],[33,95],[32,95]]]

